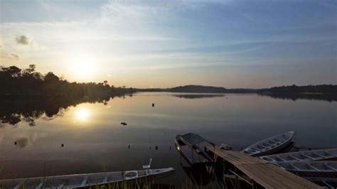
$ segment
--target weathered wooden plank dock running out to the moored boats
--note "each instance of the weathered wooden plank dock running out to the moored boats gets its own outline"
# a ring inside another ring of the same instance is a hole
[[[232,173],[242,180],[250,183],[253,188],[260,185],[263,188],[322,188],[320,185],[311,183],[289,171],[285,171],[272,163],[254,158],[240,151],[225,151],[218,147],[206,146],[207,150],[215,156],[222,158],[225,163],[234,166]],[[240,176],[240,173],[244,177]]]

